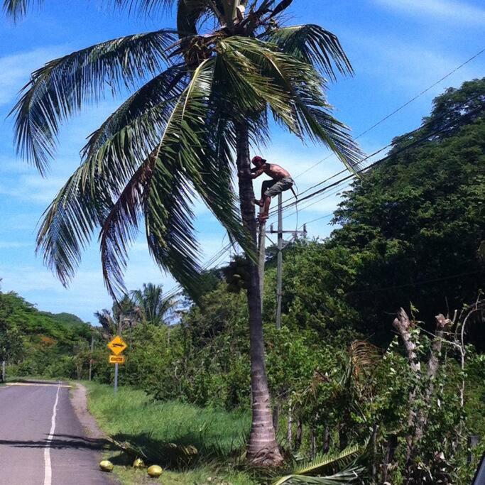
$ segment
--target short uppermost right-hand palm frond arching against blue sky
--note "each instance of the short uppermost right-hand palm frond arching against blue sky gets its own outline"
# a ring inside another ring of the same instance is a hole
[[[263,35],[284,53],[303,60],[335,80],[335,69],[341,74],[354,70],[337,36],[315,24],[276,28]]]

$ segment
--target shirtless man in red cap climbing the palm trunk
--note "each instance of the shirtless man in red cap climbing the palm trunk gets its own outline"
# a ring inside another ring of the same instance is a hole
[[[263,207],[263,212],[259,214],[258,221],[265,222],[268,219],[269,205],[271,204],[271,197],[284,192],[293,187],[293,179],[290,173],[280,165],[274,163],[267,163],[264,158],[256,156],[251,160],[254,168],[251,169],[249,177],[257,178],[259,175],[266,173],[271,177],[271,180],[264,180],[261,184],[261,199],[254,200],[254,203],[259,207]]]

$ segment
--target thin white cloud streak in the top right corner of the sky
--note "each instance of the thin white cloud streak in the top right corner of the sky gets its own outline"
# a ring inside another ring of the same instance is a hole
[[[454,0],[374,0],[388,9],[430,18],[444,18],[453,22],[483,25],[485,9]]]

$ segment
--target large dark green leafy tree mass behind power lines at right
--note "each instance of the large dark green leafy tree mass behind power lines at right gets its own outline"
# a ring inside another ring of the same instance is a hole
[[[421,320],[432,322],[436,312],[461,308],[481,288],[485,119],[476,107],[483,109],[484,99],[484,79],[437,97],[425,118],[430,125],[396,138],[391,158],[354,182],[335,212],[342,227],[328,246],[345,247],[355,261],[346,301],[359,309],[359,328],[381,342],[390,335],[378,322],[398,307],[412,302]],[[459,126],[399,152],[458,114]],[[481,337],[475,334],[474,342]]]

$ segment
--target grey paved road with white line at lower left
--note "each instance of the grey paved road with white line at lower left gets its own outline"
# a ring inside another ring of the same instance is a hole
[[[85,436],[67,386],[0,388],[1,485],[113,485],[98,469],[101,447]]]

